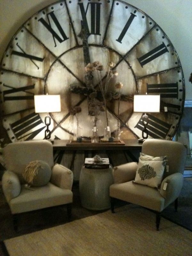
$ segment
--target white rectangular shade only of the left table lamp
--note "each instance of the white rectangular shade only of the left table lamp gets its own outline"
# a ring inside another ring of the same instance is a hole
[[[36,113],[61,111],[60,95],[34,95]]]

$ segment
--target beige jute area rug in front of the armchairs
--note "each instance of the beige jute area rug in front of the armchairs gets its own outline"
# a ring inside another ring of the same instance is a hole
[[[125,205],[53,228],[7,239],[10,256],[192,255],[192,232],[155,214]]]

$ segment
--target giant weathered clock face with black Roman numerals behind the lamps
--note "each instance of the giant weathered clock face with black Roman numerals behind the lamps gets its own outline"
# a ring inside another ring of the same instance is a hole
[[[83,47],[82,24],[89,35],[87,48]],[[142,137],[143,113],[133,112],[133,95],[158,93],[161,111],[149,113],[149,137],[172,139],[184,107],[184,77],[164,31],[147,14],[123,1],[66,0],[27,20],[2,58],[3,126],[12,141],[44,138],[45,115],[35,113],[34,95],[45,93],[61,95],[61,112],[50,114],[51,139],[71,138],[74,120],[69,111],[74,106],[82,109],[78,114],[81,135],[91,136],[88,97],[70,90],[71,84],[87,86],[84,66],[89,59],[100,61],[105,70],[110,61],[115,63],[118,76],[111,80],[110,91],[117,90],[116,82],[124,84],[119,115],[118,101],[108,102],[112,132],[119,120],[122,138]],[[93,83],[97,85],[94,79]],[[105,125],[105,113],[101,113],[100,135]]]

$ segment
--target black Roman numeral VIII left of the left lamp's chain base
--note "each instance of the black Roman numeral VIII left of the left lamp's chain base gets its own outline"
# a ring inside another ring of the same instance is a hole
[[[34,128],[39,124],[43,124],[43,126],[34,130]],[[21,140],[23,138],[25,138],[25,140],[32,140],[46,127],[38,113],[29,114],[28,116],[10,124],[10,126],[17,140]]]

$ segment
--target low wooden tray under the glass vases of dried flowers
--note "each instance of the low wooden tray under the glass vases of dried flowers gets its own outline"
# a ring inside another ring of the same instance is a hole
[[[92,143],[91,140],[82,140],[82,142],[78,142],[76,140],[71,140],[66,144],[67,146],[79,146],[79,147],[84,147],[84,146],[118,146],[118,145],[125,145],[123,140],[114,140],[113,142],[108,142],[108,141],[99,141],[97,143]]]

